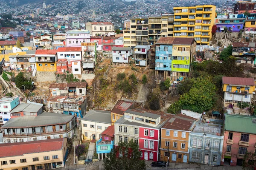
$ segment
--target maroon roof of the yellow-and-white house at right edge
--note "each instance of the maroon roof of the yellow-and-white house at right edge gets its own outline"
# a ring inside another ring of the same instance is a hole
[[[222,77],[222,84],[230,85],[255,85],[253,78]]]

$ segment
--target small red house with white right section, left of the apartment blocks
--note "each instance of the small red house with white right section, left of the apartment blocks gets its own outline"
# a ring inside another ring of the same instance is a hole
[[[112,51],[113,47],[123,47],[123,37],[103,37],[103,50]]]

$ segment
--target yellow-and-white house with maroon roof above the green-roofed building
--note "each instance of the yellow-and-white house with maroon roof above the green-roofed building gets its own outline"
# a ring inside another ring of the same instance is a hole
[[[235,103],[250,104],[255,90],[253,78],[222,77],[222,91],[224,92],[224,107],[234,106]]]

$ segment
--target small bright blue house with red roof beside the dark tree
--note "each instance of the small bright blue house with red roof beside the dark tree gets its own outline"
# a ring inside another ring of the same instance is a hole
[[[99,141],[96,142],[96,153],[98,154],[98,159],[103,160],[106,158],[106,154],[111,152],[114,147],[114,134],[115,126],[109,126],[100,135],[102,136]]]

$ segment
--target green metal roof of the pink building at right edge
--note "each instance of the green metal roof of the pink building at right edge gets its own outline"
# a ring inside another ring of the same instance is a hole
[[[225,114],[225,130],[256,134],[256,116]]]

